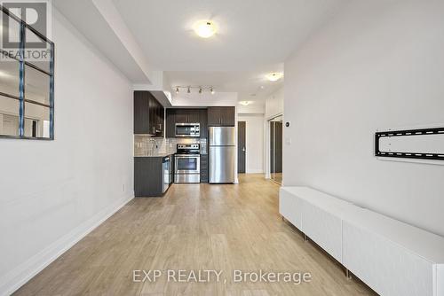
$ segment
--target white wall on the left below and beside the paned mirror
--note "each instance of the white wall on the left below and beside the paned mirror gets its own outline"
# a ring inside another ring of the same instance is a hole
[[[0,295],[133,197],[131,84],[53,12],[55,141],[0,141]]]

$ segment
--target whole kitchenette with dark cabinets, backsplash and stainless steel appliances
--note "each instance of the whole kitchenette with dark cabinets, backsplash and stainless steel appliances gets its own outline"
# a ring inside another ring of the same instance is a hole
[[[173,183],[236,183],[235,107],[164,108],[156,97],[134,91],[135,196],[162,197]]]

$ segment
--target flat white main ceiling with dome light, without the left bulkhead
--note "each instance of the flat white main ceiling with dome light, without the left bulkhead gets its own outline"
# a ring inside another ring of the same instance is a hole
[[[262,102],[283,84],[265,74],[283,72],[283,61],[343,0],[113,0],[151,66],[176,85],[212,85]],[[211,19],[209,39],[192,27]],[[263,88],[262,88],[263,87]],[[174,92],[173,96],[174,96]]]

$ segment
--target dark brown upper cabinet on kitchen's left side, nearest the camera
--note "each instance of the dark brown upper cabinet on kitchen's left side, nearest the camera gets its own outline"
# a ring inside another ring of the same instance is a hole
[[[149,91],[134,91],[134,134],[163,136],[163,111]]]

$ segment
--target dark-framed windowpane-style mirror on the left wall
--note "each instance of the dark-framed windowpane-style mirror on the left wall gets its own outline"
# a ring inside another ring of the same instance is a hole
[[[0,8],[0,137],[53,140],[54,43]]]

